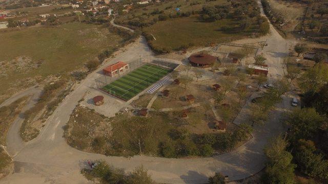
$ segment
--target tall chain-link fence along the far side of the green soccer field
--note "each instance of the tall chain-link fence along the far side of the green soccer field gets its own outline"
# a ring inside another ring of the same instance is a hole
[[[145,58],[140,58],[140,59],[136,59],[136,60],[133,60],[131,62],[129,62],[129,69],[126,70],[125,73],[123,74],[119,74],[119,75],[116,75],[114,77],[110,77],[110,76],[107,76],[107,75],[101,75],[98,79],[95,80],[96,82],[96,87],[97,88],[100,88],[100,87],[103,87],[107,84],[110,84],[112,82],[114,82],[115,80],[129,74],[130,72],[134,71],[136,68],[144,65],[144,64],[153,64],[153,65],[156,65],[156,66],[161,66],[161,67],[165,67],[165,68],[168,68],[170,70],[174,70],[179,64],[176,64],[176,63],[172,63],[172,62],[169,62],[167,61],[166,59],[162,59],[162,58],[156,58],[156,57],[153,57],[153,56],[149,56],[149,57],[145,57]]]

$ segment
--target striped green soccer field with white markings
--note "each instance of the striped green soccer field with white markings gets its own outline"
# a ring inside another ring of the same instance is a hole
[[[147,87],[166,76],[171,70],[160,66],[145,64],[129,74],[101,87],[109,94],[128,101]]]

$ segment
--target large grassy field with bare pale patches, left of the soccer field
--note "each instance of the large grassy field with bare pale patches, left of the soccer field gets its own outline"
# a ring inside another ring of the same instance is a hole
[[[88,24],[24,28],[0,32],[1,100],[51,76],[81,70],[99,53],[119,47],[123,38]]]

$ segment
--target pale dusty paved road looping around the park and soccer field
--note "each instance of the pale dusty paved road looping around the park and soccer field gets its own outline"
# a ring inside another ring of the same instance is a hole
[[[273,81],[283,75],[281,56],[283,56],[286,41],[273,27],[270,30],[268,47],[262,52],[268,58],[269,77]],[[147,54],[152,53],[146,40],[141,37],[137,44],[111,59],[109,63],[129,62],[135,60],[136,56]],[[19,140],[14,140],[15,143],[8,141],[8,150],[14,156],[15,173],[4,178],[0,183],[21,183],[22,181],[24,183],[87,183],[88,181],[79,174],[79,169],[86,167],[86,159],[104,159],[126,171],[144,165],[155,181],[163,183],[206,183],[207,178],[215,172],[229,175],[232,180],[242,179],[257,173],[264,167],[263,147],[270,137],[282,131],[279,118],[283,112],[282,109],[290,107],[289,97],[284,97],[284,101],[278,105],[279,108],[272,114],[270,121],[265,126],[255,128],[253,139],[232,152],[215,157],[175,159],[134,156],[125,158],[87,153],[66,144],[63,138],[63,127],[68,122],[77,102],[88,89],[95,86],[94,79],[99,75],[96,71],[81,81],[55,110],[40,134],[25,144],[23,149],[15,147],[16,143],[20,144]],[[248,104],[235,120],[236,124],[244,121],[245,115],[242,114],[247,110]],[[15,134],[18,130],[18,127],[14,127],[10,134]]]

